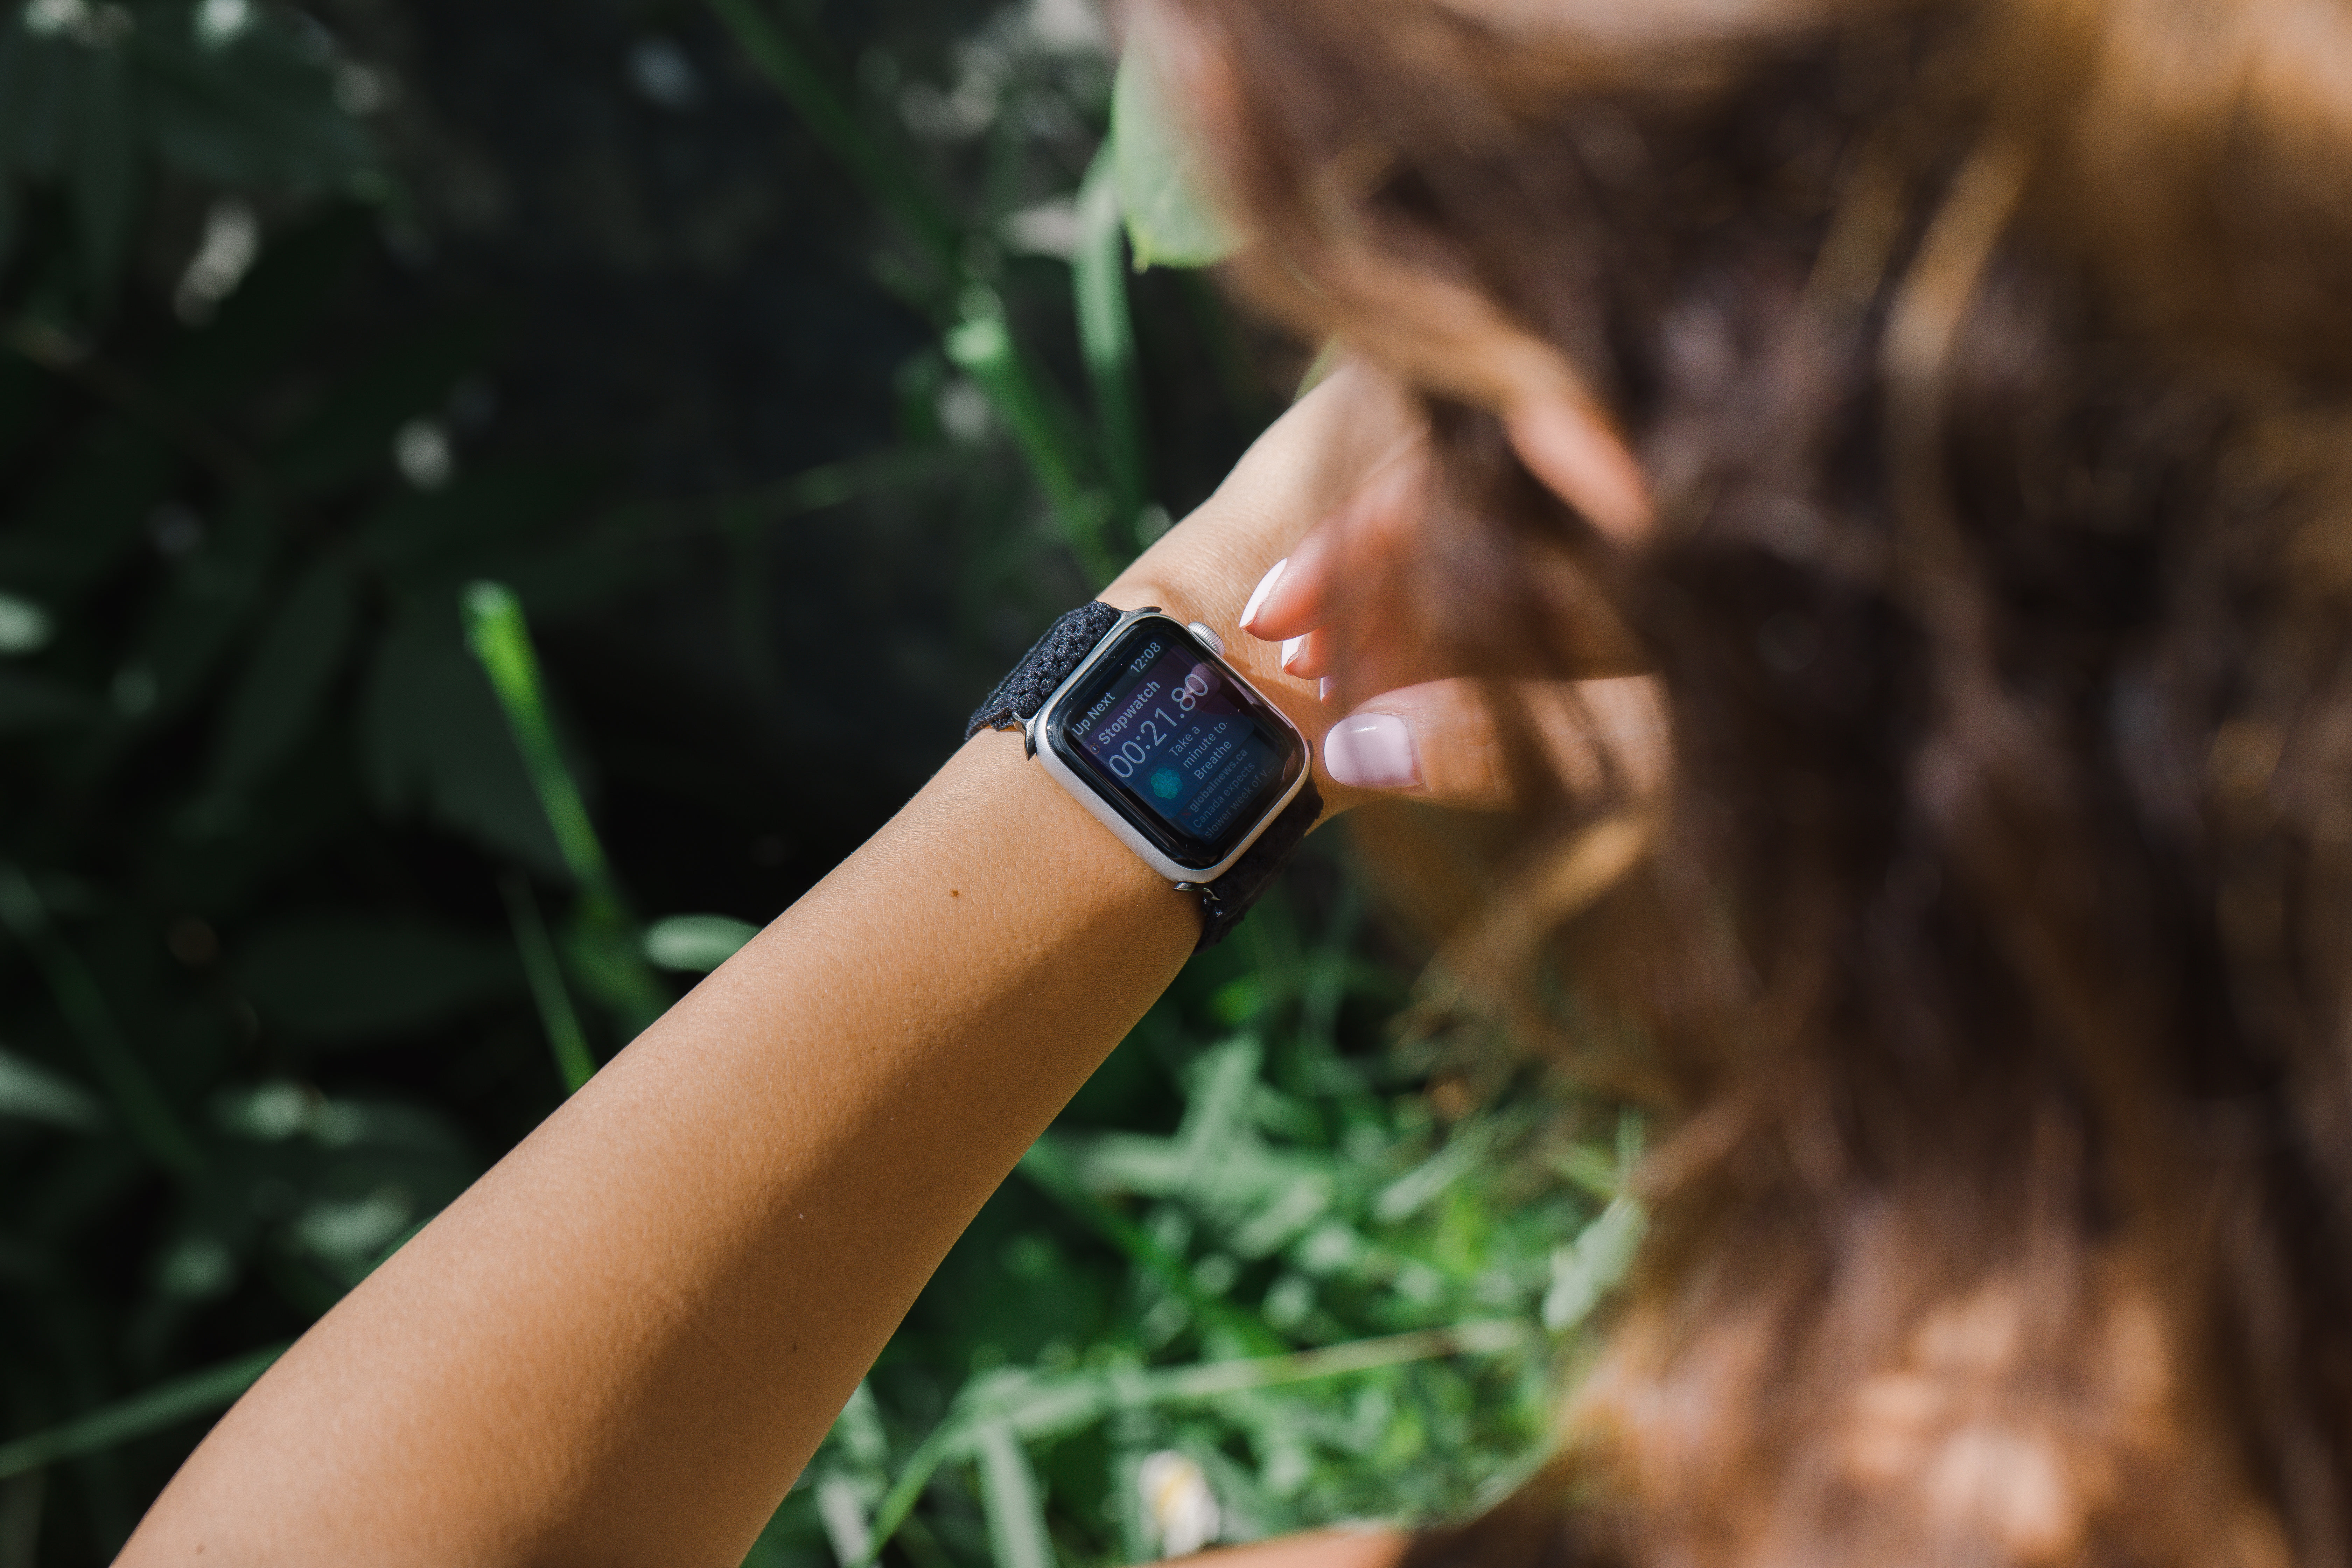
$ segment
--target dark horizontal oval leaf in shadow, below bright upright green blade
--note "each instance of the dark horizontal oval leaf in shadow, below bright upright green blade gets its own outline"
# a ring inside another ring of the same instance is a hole
[[[320,1041],[447,1023],[522,990],[508,943],[386,914],[310,914],[242,945],[233,973],[261,1016]]]

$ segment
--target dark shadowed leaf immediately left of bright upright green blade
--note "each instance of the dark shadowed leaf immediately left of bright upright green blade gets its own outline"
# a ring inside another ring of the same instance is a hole
[[[423,811],[494,856],[569,886],[572,872],[506,715],[447,604],[409,607],[383,637],[360,712],[360,745],[379,809]]]

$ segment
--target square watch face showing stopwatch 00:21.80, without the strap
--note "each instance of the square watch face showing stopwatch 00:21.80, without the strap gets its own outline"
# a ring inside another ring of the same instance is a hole
[[[1305,741],[1183,625],[1122,630],[1047,717],[1044,743],[1178,865],[1240,846],[1305,769]]]

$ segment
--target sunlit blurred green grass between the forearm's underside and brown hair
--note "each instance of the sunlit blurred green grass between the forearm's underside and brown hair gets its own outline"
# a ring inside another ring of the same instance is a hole
[[[1425,1072],[1362,1051],[1399,994],[1355,919],[1341,900],[1303,931],[1277,900],[1185,973],[950,1258],[753,1561],[823,1540],[844,1566],[884,1544],[1134,1563],[1442,1519],[1529,1472],[1559,1335],[1630,1258],[1637,1128],[1578,1138],[1536,1084],[1444,1124]],[[1145,1084],[1181,1091],[1174,1128],[1131,1131],[1157,1121],[1122,1103]],[[1155,1462],[1214,1500],[1211,1533]]]

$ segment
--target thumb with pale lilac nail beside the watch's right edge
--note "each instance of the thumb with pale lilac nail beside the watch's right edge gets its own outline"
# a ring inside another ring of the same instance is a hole
[[[1599,797],[1611,776],[1637,797],[1665,783],[1665,705],[1651,677],[1517,682],[1510,693],[1571,795]],[[1489,811],[1512,804],[1503,722],[1470,679],[1371,698],[1324,733],[1322,757],[1331,783],[1357,797]]]

